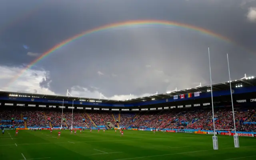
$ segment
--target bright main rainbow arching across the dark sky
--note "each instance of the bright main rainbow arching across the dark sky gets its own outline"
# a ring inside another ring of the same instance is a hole
[[[214,33],[214,32],[212,32],[210,30],[207,30],[207,29],[204,29],[204,28],[200,28],[200,27],[197,27],[197,26],[192,26],[192,25],[189,25],[189,24],[183,24],[183,23],[179,23],[179,22],[174,22],[174,21],[166,21],[166,20],[131,20],[131,21],[107,24],[107,25],[104,25],[104,26],[93,28],[91,30],[86,30],[86,31],[84,31],[84,32],[82,32],[80,34],[77,34],[77,35],[75,35],[75,36],[73,36],[71,38],[68,38],[67,40],[64,40],[64,41],[60,42],[56,46],[52,47],[50,50],[44,52],[40,57],[38,57],[37,59],[33,60],[19,74],[17,74],[8,83],[7,88],[10,87],[11,84],[14,83],[19,77],[21,77],[22,74],[24,74],[24,72],[26,72],[26,70],[29,70],[36,63],[38,63],[41,60],[43,60],[44,58],[46,58],[47,56],[52,54],[54,51],[62,48],[63,46],[66,46],[70,42],[78,40],[79,38],[81,38],[83,36],[88,36],[90,34],[94,34],[94,33],[97,33],[97,32],[100,32],[100,31],[104,31],[104,30],[109,30],[109,29],[122,28],[122,27],[140,27],[140,26],[144,26],[144,25],[150,25],[150,26],[152,26],[152,25],[161,25],[161,26],[169,26],[169,27],[170,26],[176,26],[176,27],[180,27],[180,28],[186,28],[186,29],[189,29],[189,30],[197,31],[199,33],[206,34],[206,35],[212,36],[214,38],[218,38],[218,39],[223,40],[223,41],[228,42],[228,43],[234,43],[229,38],[224,37],[224,36],[222,36],[220,34]]]

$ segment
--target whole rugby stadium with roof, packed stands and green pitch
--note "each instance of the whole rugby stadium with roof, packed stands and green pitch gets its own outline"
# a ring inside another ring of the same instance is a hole
[[[256,78],[248,77],[212,85],[212,96],[210,86],[198,86],[123,101],[0,92],[1,159],[252,160],[255,85]]]

